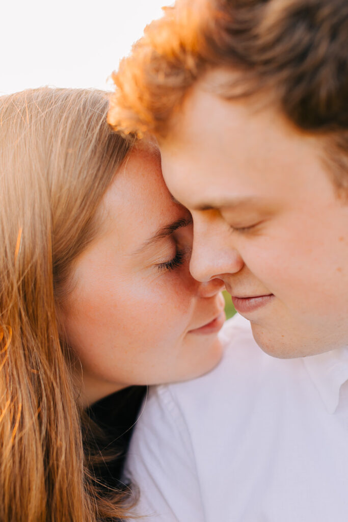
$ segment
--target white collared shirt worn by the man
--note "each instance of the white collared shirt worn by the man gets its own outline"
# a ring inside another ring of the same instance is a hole
[[[150,389],[126,476],[163,522],[347,522],[348,347],[275,359],[241,316],[222,362]]]

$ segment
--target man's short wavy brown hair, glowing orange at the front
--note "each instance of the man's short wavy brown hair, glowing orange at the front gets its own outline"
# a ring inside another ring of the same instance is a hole
[[[335,182],[348,188],[347,48],[345,0],[177,0],[113,74],[109,123],[164,139],[190,88],[230,69],[221,96],[271,91],[298,128],[328,138]]]

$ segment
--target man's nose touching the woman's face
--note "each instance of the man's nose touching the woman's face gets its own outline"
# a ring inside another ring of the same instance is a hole
[[[206,216],[204,215],[206,213]],[[224,220],[208,212],[193,213],[194,239],[190,259],[191,275],[198,281],[222,279],[236,274],[244,266],[241,255],[231,242]]]

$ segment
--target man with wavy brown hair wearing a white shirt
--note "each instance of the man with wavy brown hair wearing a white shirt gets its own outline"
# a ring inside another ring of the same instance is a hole
[[[263,351],[299,358],[259,353],[237,318],[217,370],[152,393],[130,468],[160,520],[348,519],[347,48],[344,0],[179,1],[115,75],[109,121],[158,138],[193,215],[191,273],[224,281]],[[185,449],[156,466],[174,424]],[[194,501],[160,485],[166,465],[196,474]]]

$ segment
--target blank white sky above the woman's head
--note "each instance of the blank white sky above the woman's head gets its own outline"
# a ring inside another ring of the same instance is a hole
[[[171,0],[3,0],[0,94],[107,81],[143,28]]]

